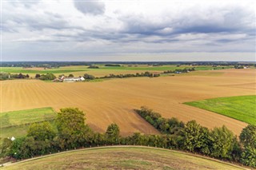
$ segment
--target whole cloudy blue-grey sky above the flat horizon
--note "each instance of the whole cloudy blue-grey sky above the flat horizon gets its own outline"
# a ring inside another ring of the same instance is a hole
[[[1,1],[2,61],[256,61],[256,1]]]

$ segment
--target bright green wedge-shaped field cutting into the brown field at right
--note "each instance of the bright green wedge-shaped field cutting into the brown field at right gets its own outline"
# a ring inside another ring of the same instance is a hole
[[[220,97],[184,104],[256,125],[256,96]]]

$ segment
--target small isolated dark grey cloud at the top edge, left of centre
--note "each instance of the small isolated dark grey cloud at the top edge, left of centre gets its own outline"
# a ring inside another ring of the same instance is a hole
[[[75,1],[74,6],[83,14],[104,14],[105,12],[105,4],[103,2],[91,2],[91,1]]]

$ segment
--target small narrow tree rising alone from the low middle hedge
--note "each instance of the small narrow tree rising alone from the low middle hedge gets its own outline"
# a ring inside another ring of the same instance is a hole
[[[118,125],[111,124],[106,128],[106,139],[109,140],[110,143],[118,143],[119,133],[120,129]]]

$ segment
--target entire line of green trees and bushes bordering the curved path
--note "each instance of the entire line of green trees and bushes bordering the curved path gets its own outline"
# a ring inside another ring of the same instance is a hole
[[[85,125],[85,114],[82,111],[61,109],[54,126],[49,122],[30,125],[27,136],[14,141],[4,139],[0,156],[24,159],[82,147],[137,144],[198,152],[256,167],[256,127],[254,125],[248,125],[242,130],[239,142],[225,126],[209,130],[198,125],[196,121],[184,124],[174,118],[164,119],[158,113],[146,108],[136,112],[158,128],[162,134],[142,135],[136,132],[132,136],[124,137],[120,136],[120,129],[116,124],[109,125],[106,132],[102,134],[92,131],[88,125]]]

